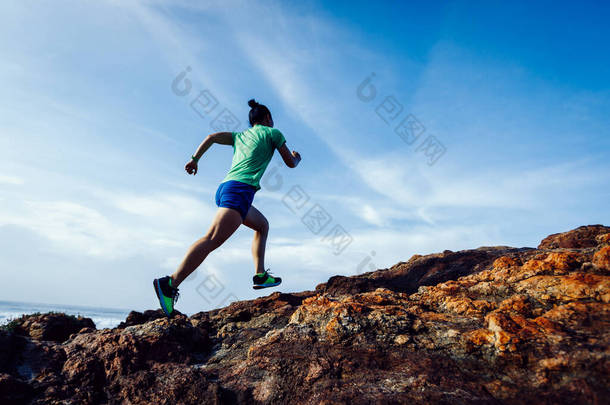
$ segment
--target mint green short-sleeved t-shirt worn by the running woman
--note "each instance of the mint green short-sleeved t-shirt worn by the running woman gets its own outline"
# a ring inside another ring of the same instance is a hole
[[[256,124],[243,132],[232,132],[233,163],[222,181],[237,180],[260,190],[259,182],[275,149],[286,142],[279,129]]]

